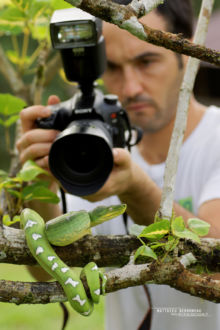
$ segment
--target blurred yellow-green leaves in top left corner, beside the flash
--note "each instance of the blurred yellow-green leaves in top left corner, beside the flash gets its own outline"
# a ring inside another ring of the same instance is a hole
[[[40,52],[50,44],[48,26],[52,12],[67,7],[70,5],[61,0],[11,0],[3,6],[0,12],[1,35],[12,39],[13,49],[7,50],[6,54],[21,76],[33,73],[33,64]],[[18,42],[19,35],[23,35],[22,44]],[[37,41],[31,54],[28,49],[30,38]]]

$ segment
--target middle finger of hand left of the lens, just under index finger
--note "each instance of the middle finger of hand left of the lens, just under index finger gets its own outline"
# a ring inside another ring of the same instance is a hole
[[[26,132],[16,143],[17,149],[21,152],[31,144],[53,142],[59,131],[36,128]]]

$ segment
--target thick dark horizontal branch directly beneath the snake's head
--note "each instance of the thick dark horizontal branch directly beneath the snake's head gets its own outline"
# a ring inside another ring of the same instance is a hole
[[[134,250],[141,245],[135,236],[92,236],[65,247],[54,247],[59,257],[69,266],[82,267],[90,261],[95,261],[100,267],[121,267],[129,262]],[[191,240],[181,240],[178,254],[192,252],[197,261],[215,272],[220,272],[220,239],[203,238],[201,244]],[[141,260],[146,262],[146,259]],[[0,228],[0,262],[36,265],[25,242],[23,230]]]

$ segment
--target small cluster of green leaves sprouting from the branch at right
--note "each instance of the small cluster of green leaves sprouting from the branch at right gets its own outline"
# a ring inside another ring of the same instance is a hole
[[[134,255],[134,260],[139,256],[153,258],[160,257],[163,260],[172,252],[179,243],[180,238],[191,239],[200,243],[199,236],[205,236],[209,232],[210,224],[197,219],[190,218],[187,221],[188,228],[181,216],[168,219],[158,219],[151,225],[144,227],[133,225],[129,232],[135,235],[142,243]]]

